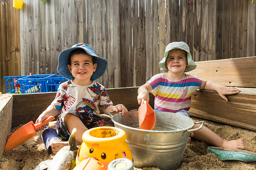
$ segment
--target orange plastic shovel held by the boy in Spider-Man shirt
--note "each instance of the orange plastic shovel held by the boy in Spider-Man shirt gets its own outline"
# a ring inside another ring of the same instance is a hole
[[[21,128],[17,129],[13,134],[9,137],[9,139],[6,142],[4,151],[8,151],[10,149],[13,149],[26,140],[30,139],[31,137],[35,136],[37,132],[35,132],[35,129],[40,128],[44,124],[54,120],[55,118],[53,116],[48,117],[45,119],[42,124],[34,124],[33,121],[30,121],[29,123],[25,124]]]

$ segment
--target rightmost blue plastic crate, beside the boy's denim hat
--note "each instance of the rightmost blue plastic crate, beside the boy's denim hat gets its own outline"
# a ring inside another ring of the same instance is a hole
[[[61,75],[51,75],[44,78],[46,82],[47,92],[57,91],[61,83],[68,81],[68,79],[63,78]]]

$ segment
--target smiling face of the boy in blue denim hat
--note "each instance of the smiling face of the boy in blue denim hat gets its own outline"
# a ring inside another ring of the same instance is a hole
[[[74,54],[70,58],[71,65],[68,69],[74,76],[74,83],[78,85],[89,85],[93,72],[96,71],[97,63],[93,64],[93,57],[88,54]]]

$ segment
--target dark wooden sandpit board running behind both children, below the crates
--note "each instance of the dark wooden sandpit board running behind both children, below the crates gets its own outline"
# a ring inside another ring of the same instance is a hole
[[[137,101],[139,87],[106,89],[114,105],[124,104],[128,111],[139,108]],[[56,92],[13,95],[12,126],[37,120],[38,116],[55,99]],[[154,95],[150,94],[149,104],[154,107]],[[57,118],[57,116],[55,116]]]

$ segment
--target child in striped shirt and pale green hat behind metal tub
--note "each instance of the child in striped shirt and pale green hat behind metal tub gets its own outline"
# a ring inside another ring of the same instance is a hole
[[[154,75],[146,84],[140,86],[137,97],[139,104],[148,102],[148,92],[153,91],[155,111],[189,117],[191,96],[198,88],[217,91],[226,101],[228,99],[225,95],[237,94],[240,91],[234,87],[221,86],[211,81],[201,80],[194,75],[185,74],[184,72],[194,70],[196,64],[192,60],[188,45],[184,42],[170,43],[166,47],[165,57],[159,62],[159,66],[164,73]],[[194,128],[199,126],[200,124],[196,124]],[[224,149],[244,149],[242,139],[227,141],[205,126],[201,130],[194,131],[194,134],[191,133],[191,136]]]

